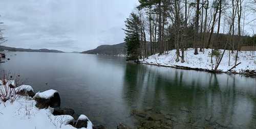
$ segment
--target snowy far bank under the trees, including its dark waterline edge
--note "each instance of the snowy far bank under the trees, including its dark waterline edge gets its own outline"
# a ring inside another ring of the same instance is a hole
[[[221,52],[224,50],[220,50]],[[256,77],[256,56],[252,55],[251,51],[239,51],[239,57],[237,65],[235,65],[236,58],[234,54],[231,54],[228,50],[222,57],[222,62],[219,64],[218,69],[212,69],[216,66],[220,57],[212,57],[213,61],[210,62],[210,49],[205,49],[204,53],[200,52],[198,55],[194,55],[193,48],[185,51],[185,58],[187,59],[184,63],[175,61],[176,50],[166,51],[166,54],[159,55],[155,54],[145,59],[136,61],[141,64],[171,67],[176,69],[186,70],[197,70],[206,71],[211,73],[229,73],[229,74],[242,74],[245,76]],[[213,65],[213,66],[211,66]],[[234,67],[236,66],[236,67]]]

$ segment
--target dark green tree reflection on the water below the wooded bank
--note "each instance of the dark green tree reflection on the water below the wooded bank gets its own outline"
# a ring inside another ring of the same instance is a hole
[[[244,104],[252,103],[248,93],[237,95],[240,93],[236,89],[237,78],[236,75],[130,64],[126,66],[123,93],[128,106],[136,105],[140,109],[151,106],[154,110],[175,114],[182,123],[199,121],[203,126],[223,127],[237,127],[239,122],[253,125],[251,117],[243,116],[251,120],[249,123],[239,119],[242,111],[236,108],[241,100],[238,98],[243,98]],[[253,96],[255,98],[255,94]],[[254,107],[248,108],[255,114]]]

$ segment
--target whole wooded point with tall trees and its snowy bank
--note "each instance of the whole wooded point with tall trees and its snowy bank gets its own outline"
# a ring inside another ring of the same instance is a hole
[[[124,21],[126,59],[164,67],[255,76],[256,35],[252,23],[255,19],[245,24],[248,14],[255,12],[253,8],[245,8],[254,5],[255,2],[240,0],[140,0]],[[246,30],[248,25],[251,31]]]

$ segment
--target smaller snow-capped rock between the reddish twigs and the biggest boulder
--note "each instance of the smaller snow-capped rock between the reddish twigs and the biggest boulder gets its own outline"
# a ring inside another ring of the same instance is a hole
[[[15,92],[16,94],[22,95],[22,96],[30,96],[30,97],[35,96],[33,88],[29,85],[22,85],[22,86],[16,87]]]

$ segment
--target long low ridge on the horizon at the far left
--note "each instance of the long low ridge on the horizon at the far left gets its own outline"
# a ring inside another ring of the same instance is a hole
[[[65,53],[60,50],[54,49],[25,49],[25,48],[15,48],[15,47],[8,47],[8,46],[0,46],[0,51],[27,51],[27,52],[42,52],[42,53]]]

